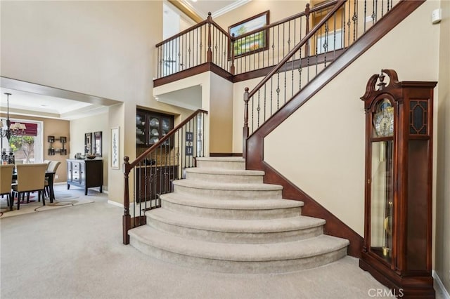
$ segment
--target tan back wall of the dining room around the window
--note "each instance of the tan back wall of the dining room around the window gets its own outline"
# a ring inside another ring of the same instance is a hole
[[[6,114],[1,113],[1,118],[6,117]],[[69,121],[63,121],[60,119],[44,119],[41,117],[27,117],[23,115],[15,115],[10,114],[11,118],[15,119],[24,119],[24,120],[33,120],[33,121],[42,121],[44,126],[43,136],[42,136],[42,145],[44,150],[43,160],[53,160],[60,161],[61,164],[58,166],[58,170],[56,171],[56,175],[58,178],[55,178],[55,182],[65,182],[67,180],[67,165],[65,164],[65,159],[68,159],[69,155],[61,155],[60,153],[56,153],[54,156],[49,156],[49,148],[50,143],[47,142],[47,136],[55,136],[55,138],[60,138],[60,136],[65,136],[68,139],[68,143],[65,144],[65,149],[70,152],[70,123]],[[53,143],[53,148],[60,148],[61,144],[59,141]]]

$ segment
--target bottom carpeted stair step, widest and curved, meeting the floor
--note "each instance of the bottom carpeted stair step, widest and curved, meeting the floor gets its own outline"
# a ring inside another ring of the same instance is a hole
[[[321,235],[271,244],[227,244],[178,237],[149,225],[129,231],[130,244],[177,265],[229,273],[270,273],[309,269],[347,254],[348,240]]]

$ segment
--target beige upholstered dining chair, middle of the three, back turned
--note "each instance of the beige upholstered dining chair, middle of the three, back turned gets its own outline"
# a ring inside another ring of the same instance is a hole
[[[42,196],[42,204],[45,206],[44,187],[47,164],[18,164],[15,167],[17,168],[17,185],[13,185],[13,194],[17,194],[17,209],[20,209],[20,195],[27,193],[27,201],[29,201],[30,192],[34,191],[38,192],[39,201]]]

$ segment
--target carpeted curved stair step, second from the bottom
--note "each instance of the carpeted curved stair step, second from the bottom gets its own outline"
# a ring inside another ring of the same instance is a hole
[[[158,230],[221,243],[262,244],[297,241],[323,233],[325,220],[307,216],[264,220],[213,219],[156,208],[146,212],[147,223]]]

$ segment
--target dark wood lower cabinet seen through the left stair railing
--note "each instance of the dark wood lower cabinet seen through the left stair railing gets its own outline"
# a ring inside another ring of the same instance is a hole
[[[178,166],[136,167],[136,202],[158,199],[172,192],[172,181],[178,179]]]

